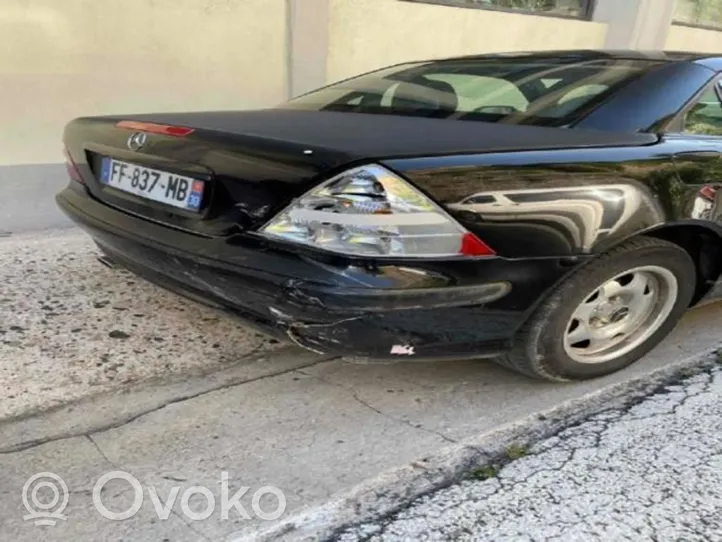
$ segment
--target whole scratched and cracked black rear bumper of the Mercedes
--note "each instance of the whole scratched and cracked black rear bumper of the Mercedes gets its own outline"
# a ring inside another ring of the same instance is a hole
[[[119,265],[320,353],[375,359],[494,355],[509,346],[529,308],[514,299],[508,278],[539,276],[507,270],[496,275],[504,280],[474,284],[359,287],[358,276],[344,283],[346,272],[338,267],[246,240],[172,230],[112,209],[82,188],[71,186],[56,199]]]

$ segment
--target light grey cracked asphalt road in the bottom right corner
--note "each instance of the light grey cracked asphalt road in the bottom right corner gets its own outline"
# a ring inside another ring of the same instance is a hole
[[[722,369],[524,452],[338,540],[722,540]]]

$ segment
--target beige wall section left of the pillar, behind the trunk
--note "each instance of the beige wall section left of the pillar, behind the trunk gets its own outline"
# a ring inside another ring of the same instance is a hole
[[[0,0],[0,165],[79,115],[277,103],[286,41],[285,0]]]

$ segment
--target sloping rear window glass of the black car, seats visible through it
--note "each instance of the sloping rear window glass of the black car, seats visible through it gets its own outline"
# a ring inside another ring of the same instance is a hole
[[[566,125],[658,64],[531,56],[403,64],[322,88],[282,107]]]

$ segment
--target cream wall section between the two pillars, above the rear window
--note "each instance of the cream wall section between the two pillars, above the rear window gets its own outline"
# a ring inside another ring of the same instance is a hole
[[[331,0],[328,78],[484,52],[603,47],[607,25],[398,0]]]

